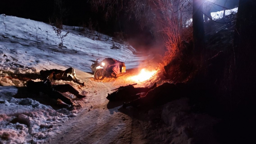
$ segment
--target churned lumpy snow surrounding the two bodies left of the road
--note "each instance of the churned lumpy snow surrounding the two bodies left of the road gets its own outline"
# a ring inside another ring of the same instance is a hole
[[[51,106],[41,104],[31,98],[15,98],[18,87],[24,86],[26,81],[14,78],[18,74],[37,74],[33,67],[18,64],[16,61],[6,61],[6,57],[0,55],[0,142],[9,143],[43,143],[63,122],[76,116],[79,108],[88,100],[74,100],[77,104],[72,110],[54,110]],[[26,77],[23,77],[26,80]],[[35,81],[41,81],[36,79]],[[56,81],[57,84],[71,84],[82,94],[90,96],[88,89],[97,87],[97,82],[85,79],[86,86],[81,87],[73,81]],[[18,87],[16,87],[18,86]],[[71,99],[76,97],[65,93]],[[44,97],[40,95],[38,97]],[[89,106],[88,106],[89,107]]]

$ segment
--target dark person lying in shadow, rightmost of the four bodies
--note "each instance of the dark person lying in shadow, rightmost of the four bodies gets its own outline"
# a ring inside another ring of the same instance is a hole
[[[187,85],[184,83],[163,83],[155,89],[148,91],[144,97],[124,103],[123,108],[133,106],[157,106],[171,100],[179,99],[188,94]]]

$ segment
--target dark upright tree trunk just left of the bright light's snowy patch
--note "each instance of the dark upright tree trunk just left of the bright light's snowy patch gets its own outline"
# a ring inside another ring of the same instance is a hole
[[[193,0],[193,42],[194,54],[198,60],[202,58],[205,47],[202,6],[202,0]]]

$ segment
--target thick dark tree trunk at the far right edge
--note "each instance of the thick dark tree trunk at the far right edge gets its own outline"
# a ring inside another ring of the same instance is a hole
[[[237,86],[246,94],[256,85],[256,1],[240,0],[234,36]],[[255,94],[253,98],[255,97]]]

